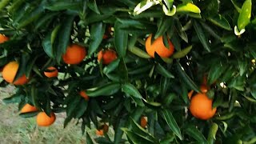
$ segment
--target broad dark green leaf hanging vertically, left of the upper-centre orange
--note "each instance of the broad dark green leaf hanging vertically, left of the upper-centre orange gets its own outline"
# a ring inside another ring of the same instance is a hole
[[[118,52],[119,57],[125,57],[128,45],[128,34],[120,29],[121,22],[114,23],[114,46]]]

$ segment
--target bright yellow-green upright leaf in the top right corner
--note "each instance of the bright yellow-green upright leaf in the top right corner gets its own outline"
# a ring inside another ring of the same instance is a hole
[[[245,29],[246,26],[250,23],[252,2],[251,0],[246,0],[242,5],[242,10],[238,17],[238,29]]]

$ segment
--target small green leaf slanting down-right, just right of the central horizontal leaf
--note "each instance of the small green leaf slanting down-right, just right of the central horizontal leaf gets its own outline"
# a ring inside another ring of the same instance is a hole
[[[122,91],[125,92],[126,94],[130,94],[134,98],[142,98],[142,94],[140,94],[138,89],[130,83],[123,84]]]

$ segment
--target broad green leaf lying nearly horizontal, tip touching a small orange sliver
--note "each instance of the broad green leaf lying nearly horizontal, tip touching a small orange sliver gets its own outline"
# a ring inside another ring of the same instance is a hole
[[[110,96],[120,90],[120,84],[117,82],[110,82],[104,86],[99,86],[86,90],[86,94],[90,97]]]

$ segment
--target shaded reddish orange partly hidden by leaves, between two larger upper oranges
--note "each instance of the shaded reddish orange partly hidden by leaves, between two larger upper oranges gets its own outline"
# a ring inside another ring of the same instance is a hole
[[[117,58],[117,53],[114,50],[101,50],[98,52],[98,62],[102,60],[104,65],[110,64]]]

